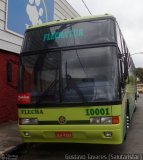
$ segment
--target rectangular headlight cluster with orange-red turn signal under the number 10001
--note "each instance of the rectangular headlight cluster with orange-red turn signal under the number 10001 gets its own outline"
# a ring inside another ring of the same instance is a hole
[[[91,117],[90,124],[119,124],[119,116]]]

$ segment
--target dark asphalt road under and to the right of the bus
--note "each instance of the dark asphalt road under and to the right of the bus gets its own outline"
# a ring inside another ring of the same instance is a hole
[[[128,137],[122,145],[36,144],[19,160],[140,159],[143,160],[143,94],[137,103]]]

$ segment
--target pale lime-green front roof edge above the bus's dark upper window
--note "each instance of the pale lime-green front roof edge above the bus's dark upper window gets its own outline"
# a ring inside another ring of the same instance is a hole
[[[70,23],[70,22],[77,22],[82,20],[92,20],[92,19],[106,19],[106,18],[112,18],[115,19],[115,17],[111,14],[104,14],[104,15],[97,15],[97,16],[84,16],[84,17],[75,17],[70,19],[62,19],[62,20],[55,20],[51,22],[46,22],[43,24],[35,25],[35,26],[29,26],[26,31],[35,29],[35,28],[41,28],[45,26],[51,26],[56,24],[63,24],[63,23]]]

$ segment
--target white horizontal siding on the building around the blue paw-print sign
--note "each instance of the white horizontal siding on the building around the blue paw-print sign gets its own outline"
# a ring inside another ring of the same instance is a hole
[[[23,38],[6,30],[7,0],[0,0],[0,49],[20,53]],[[66,0],[55,0],[54,19],[77,17],[79,14]]]

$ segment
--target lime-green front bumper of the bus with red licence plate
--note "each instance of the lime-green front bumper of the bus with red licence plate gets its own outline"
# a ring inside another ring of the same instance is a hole
[[[106,128],[106,129],[105,129]],[[19,126],[24,142],[121,144],[123,131],[114,126]]]

